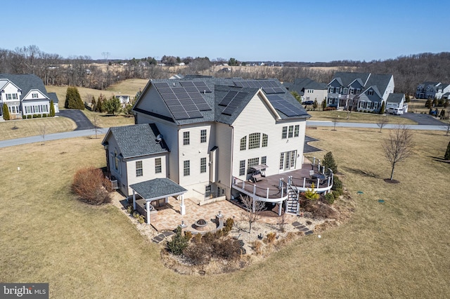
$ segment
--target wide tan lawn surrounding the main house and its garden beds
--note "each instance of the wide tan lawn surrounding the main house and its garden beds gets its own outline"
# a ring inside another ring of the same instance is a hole
[[[450,138],[416,131],[413,157],[397,166],[400,183],[390,185],[379,146],[388,130],[307,134],[333,151],[356,201],[352,218],[262,263],[206,277],[167,270],[160,247],[122,212],[86,206],[70,194],[77,168],[105,165],[99,140],[4,148],[0,281],[49,282],[51,298],[448,298],[450,164],[435,157],[444,155]]]

